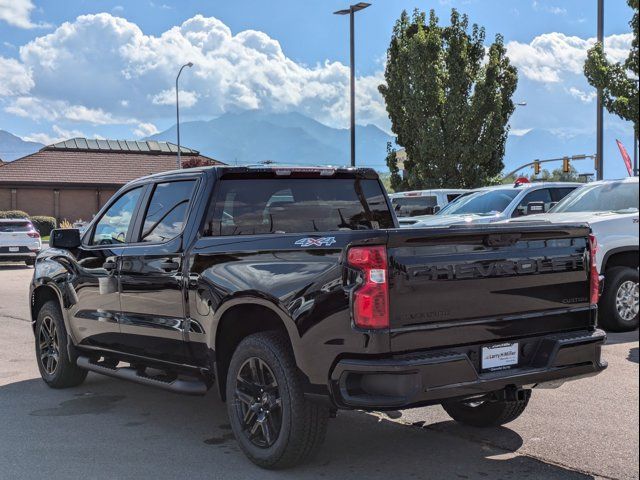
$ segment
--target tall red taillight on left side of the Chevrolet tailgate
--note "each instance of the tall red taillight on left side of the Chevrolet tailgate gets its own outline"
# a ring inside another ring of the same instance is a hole
[[[354,247],[349,250],[348,262],[350,266],[361,270],[364,276],[364,282],[353,294],[356,326],[366,329],[389,328],[386,247]]]

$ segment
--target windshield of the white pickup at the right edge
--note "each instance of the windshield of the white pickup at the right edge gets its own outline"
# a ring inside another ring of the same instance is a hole
[[[638,211],[638,184],[611,182],[585,185],[567,195],[550,211],[553,213]]]

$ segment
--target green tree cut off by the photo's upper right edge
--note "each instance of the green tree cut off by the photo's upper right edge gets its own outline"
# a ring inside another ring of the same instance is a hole
[[[624,120],[633,122],[638,133],[638,0],[627,0],[634,14],[629,22],[633,30],[631,51],[623,63],[607,60],[601,43],[596,43],[587,53],[584,74],[595,88],[602,89],[602,101],[606,109]]]

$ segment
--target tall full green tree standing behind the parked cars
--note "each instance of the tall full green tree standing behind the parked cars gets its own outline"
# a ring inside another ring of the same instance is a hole
[[[484,29],[470,29],[455,9],[444,27],[433,10],[428,22],[424,12],[402,12],[379,87],[407,154],[403,178],[389,149],[394,189],[473,188],[502,171],[518,77],[502,36],[488,49],[484,40]]]

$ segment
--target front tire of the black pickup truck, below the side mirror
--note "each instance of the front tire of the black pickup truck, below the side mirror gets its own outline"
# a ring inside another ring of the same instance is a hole
[[[84,382],[88,372],[69,359],[67,331],[60,308],[54,301],[45,303],[38,312],[35,347],[40,376],[47,385],[69,388]]]

